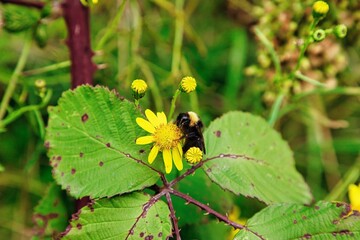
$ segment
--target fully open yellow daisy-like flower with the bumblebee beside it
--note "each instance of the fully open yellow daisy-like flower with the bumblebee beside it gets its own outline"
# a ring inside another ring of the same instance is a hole
[[[181,130],[173,123],[167,123],[164,112],[158,112],[156,115],[149,109],[145,110],[143,118],[136,118],[136,123],[145,131],[151,133],[150,136],[139,137],[136,144],[154,143],[150,150],[148,161],[152,164],[159,151],[163,153],[163,160],[166,173],[170,173],[172,162],[174,160],[175,167],[181,171],[182,163],[182,147],[181,147]]]

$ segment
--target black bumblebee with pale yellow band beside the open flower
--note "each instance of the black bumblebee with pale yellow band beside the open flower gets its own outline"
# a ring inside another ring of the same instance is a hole
[[[204,137],[202,135],[204,125],[196,113],[180,113],[176,118],[176,125],[181,129],[183,138],[185,138],[183,146],[184,154],[191,147],[198,147],[204,154],[206,153]]]

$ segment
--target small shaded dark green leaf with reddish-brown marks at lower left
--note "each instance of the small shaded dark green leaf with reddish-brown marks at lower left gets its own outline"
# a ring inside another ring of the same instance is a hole
[[[53,183],[49,186],[45,196],[35,207],[33,219],[35,237],[55,237],[65,230],[68,214],[58,185]]]

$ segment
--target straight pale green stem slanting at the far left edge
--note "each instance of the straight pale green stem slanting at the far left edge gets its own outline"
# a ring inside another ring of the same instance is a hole
[[[10,78],[10,81],[9,81],[9,85],[7,86],[6,88],[6,91],[5,91],[5,94],[4,94],[4,97],[1,101],[1,105],[0,105],[0,120],[4,118],[5,116],[5,113],[6,113],[6,109],[7,107],[9,106],[9,102],[10,102],[10,99],[16,89],[16,84],[17,84],[17,81],[19,79],[19,76],[22,72],[22,70],[24,69],[25,67],[25,64],[26,64],[26,61],[27,61],[27,58],[29,56],[29,52],[30,52],[30,48],[31,48],[31,40],[32,40],[32,32],[27,32],[26,33],[26,37],[25,37],[25,43],[24,43],[24,47],[21,51],[21,55],[20,55],[20,58],[16,64],[16,67],[15,67],[15,70]]]

